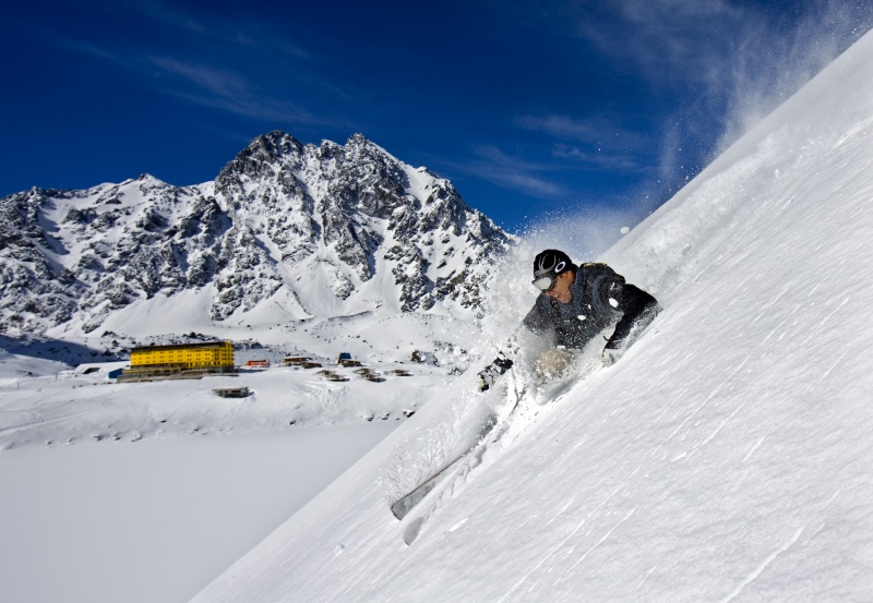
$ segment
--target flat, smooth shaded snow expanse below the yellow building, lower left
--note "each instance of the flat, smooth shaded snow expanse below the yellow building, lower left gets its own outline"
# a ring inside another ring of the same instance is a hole
[[[188,601],[393,427],[3,451],[0,600]]]

